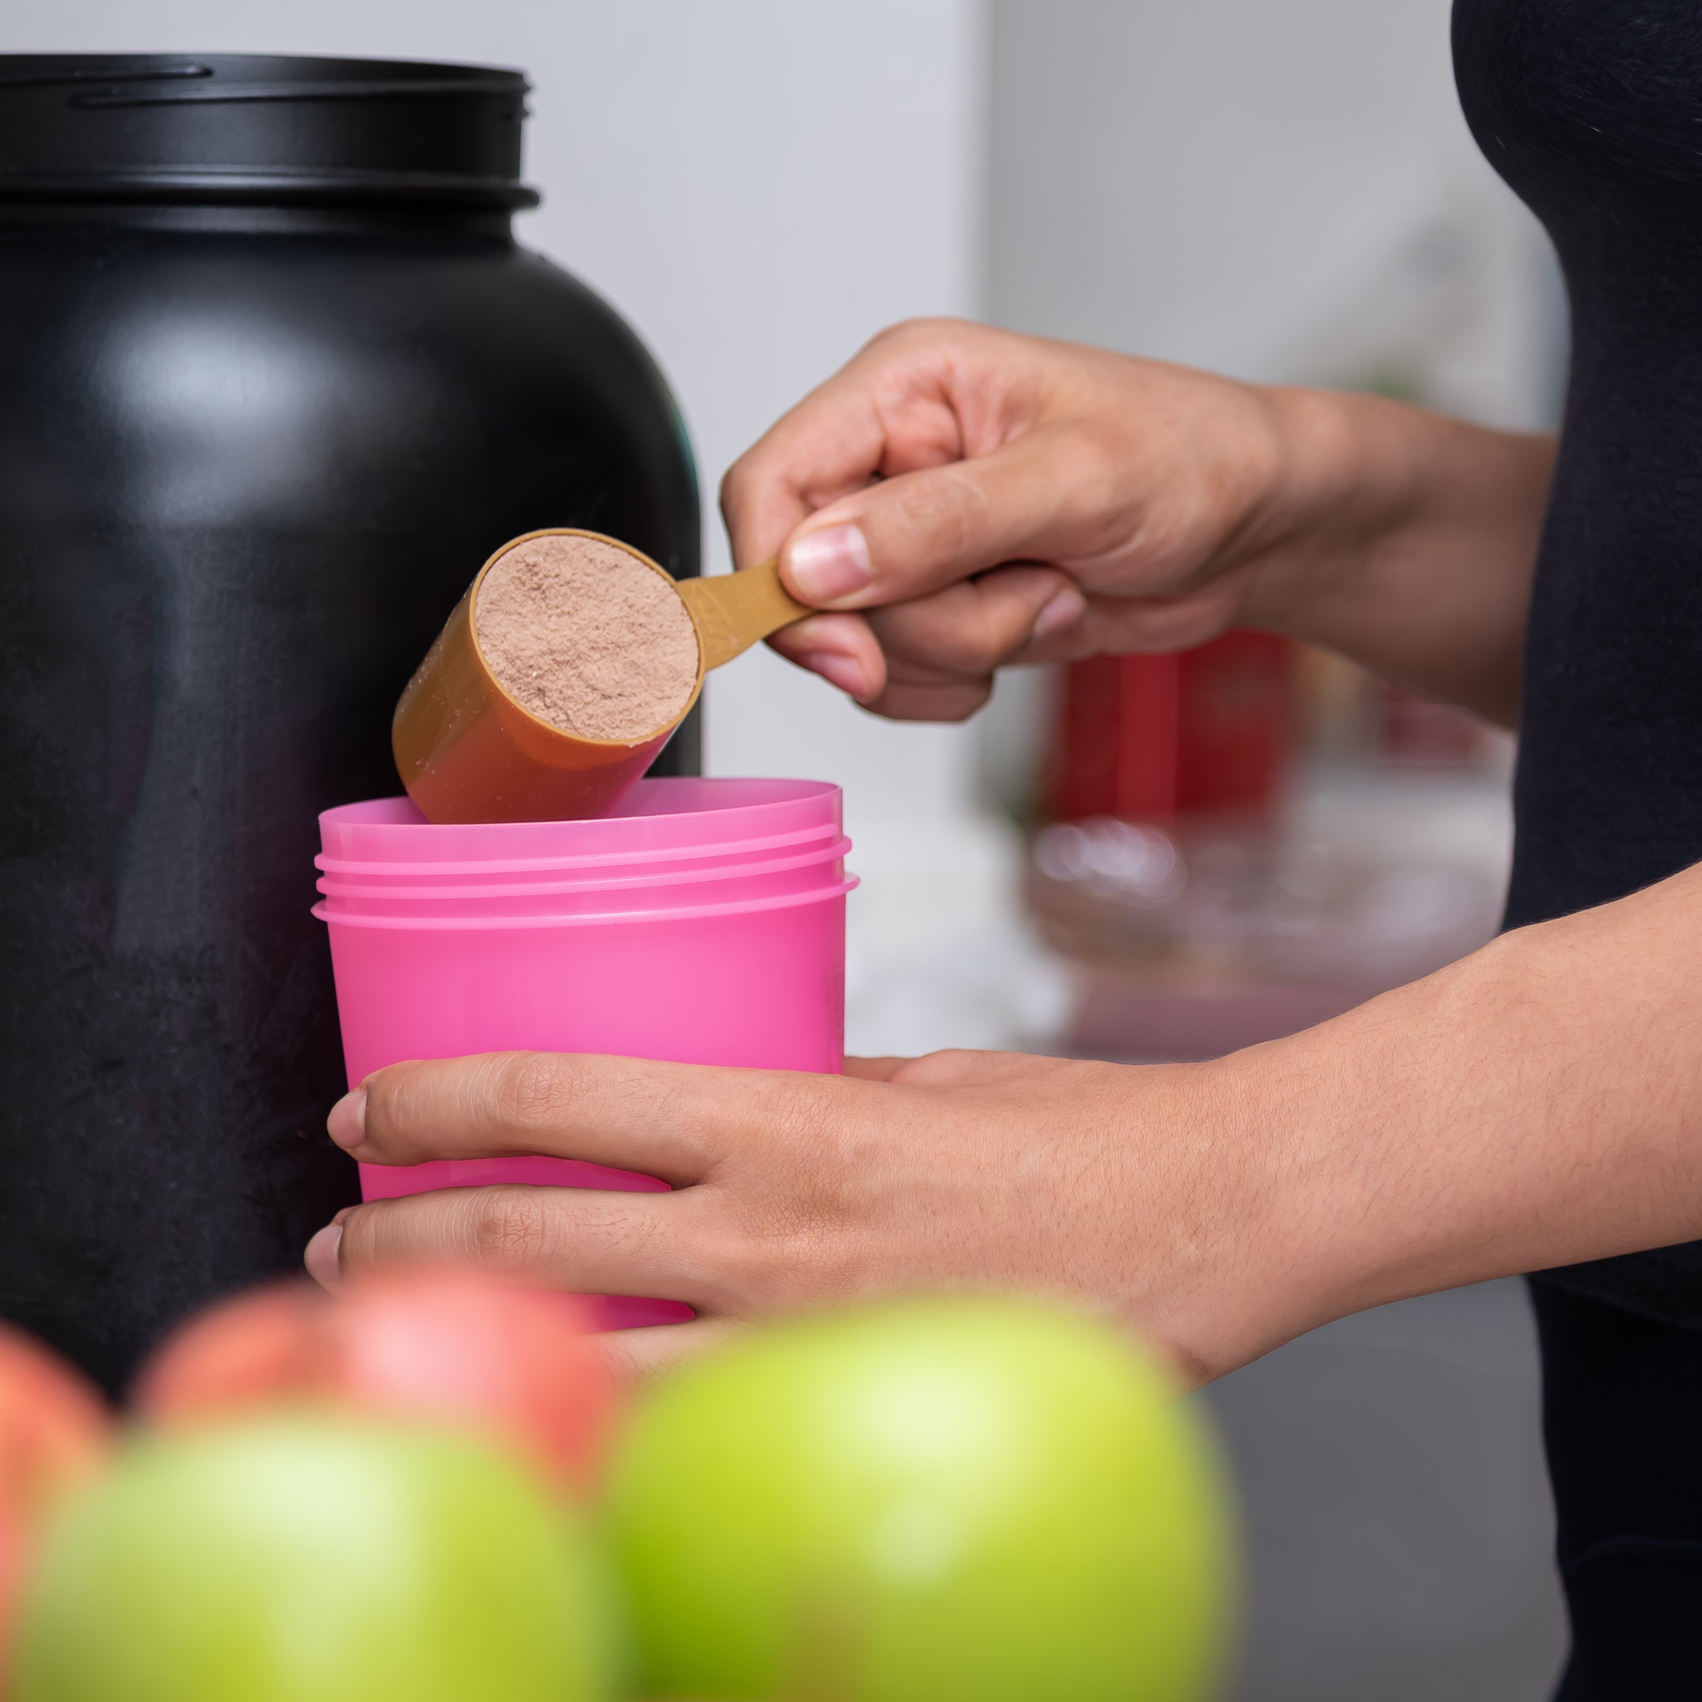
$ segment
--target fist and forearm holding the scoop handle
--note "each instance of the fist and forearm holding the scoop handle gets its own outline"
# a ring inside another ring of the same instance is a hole
[[[905,720],[1008,662],[1263,626],[1511,725],[1547,437],[955,320],[877,337],[728,471],[773,643]],[[842,611],[842,613],[839,613]]]

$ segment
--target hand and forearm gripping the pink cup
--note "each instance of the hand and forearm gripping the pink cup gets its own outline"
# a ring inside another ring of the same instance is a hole
[[[628,1368],[824,1300],[1045,1292],[1214,1377],[1367,1305],[1702,1236],[1697,963],[1690,870],[1214,1064],[398,1064],[332,1113],[366,1162],[550,1152],[676,1191],[373,1202],[308,1265],[471,1258],[700,1311],[609,1338]]]

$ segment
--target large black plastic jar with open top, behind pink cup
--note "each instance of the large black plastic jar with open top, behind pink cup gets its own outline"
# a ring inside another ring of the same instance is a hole
[[[584,526],[698,572],[655,364],[511,237],[524,97],[0,56],[0,1314],[114,1391],[357,1198],[315,817],[398,790],[478,565]]]

